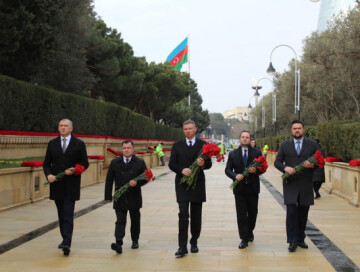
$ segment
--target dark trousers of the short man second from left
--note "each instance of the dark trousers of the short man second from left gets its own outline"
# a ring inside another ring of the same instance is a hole
[[[116,222],[115,222],[115,239],[116,243],[122,245],[123,238],[125,236],[125,228],[126,228],[126,217],[128,210],[115,210],[116,213]],[[129,210],[131,226],[131,240],[133,242],[137,242],[140,236],[140,209]]]

